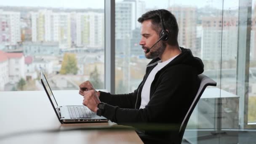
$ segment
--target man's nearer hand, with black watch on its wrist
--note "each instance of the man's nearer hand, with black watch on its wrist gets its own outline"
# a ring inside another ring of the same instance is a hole
[[[83,92],[83,105],[91,109],[93,112],[97,112],[98,104],[101,103],[95,90]]]

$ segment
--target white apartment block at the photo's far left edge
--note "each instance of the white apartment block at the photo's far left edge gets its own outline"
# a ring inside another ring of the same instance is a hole
[[[16,45],[21,42],[20,13],[0,10],[0,43]]]

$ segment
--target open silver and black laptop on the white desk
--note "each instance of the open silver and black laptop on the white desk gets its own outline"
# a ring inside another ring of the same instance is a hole
[[[106,117],[96,115],[95,112],[83,105],[59,106],[43,72],[41,72],[41,83],[60,123],[102,123],[108,121]]]

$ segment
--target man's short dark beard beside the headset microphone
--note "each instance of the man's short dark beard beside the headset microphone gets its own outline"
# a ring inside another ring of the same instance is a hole
[[[166,47],[165,43],[157,43],[156,45],[154,45],[154,47],[150,49],[148,53],[145,53],[145,57],[147,59],[155,59],[157,57],[160,57],[165,51],[165,47]],[[149,49],[148,47],[144,47],[144,46],[142,46],[142,48]]]

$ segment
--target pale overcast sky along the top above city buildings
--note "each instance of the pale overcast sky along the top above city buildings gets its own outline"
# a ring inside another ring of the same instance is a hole
[[[116,0],[120,2],[123,0]],[[211,5],[213,7],[222,8],[222,0],[144,0],[146,8],[167,8],[168,4],[188,5],[203,7]],[[224,8],[235,8],[239,0],[224,0]],[[252,0],[255,4],[256,0]],[[104,8],[104,0],[2,0],[0,6],[31,6],[31,7],[52,7],[52,8]],[[22,3],[21,3],[22,2]]]

